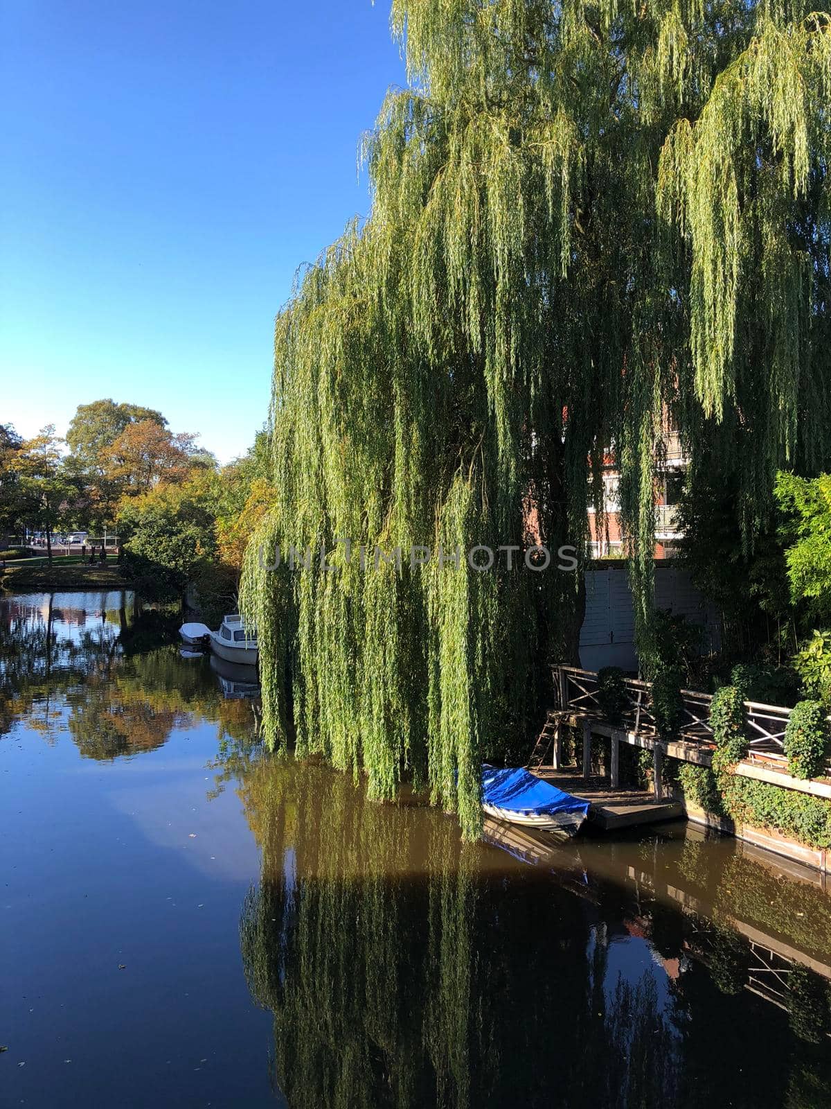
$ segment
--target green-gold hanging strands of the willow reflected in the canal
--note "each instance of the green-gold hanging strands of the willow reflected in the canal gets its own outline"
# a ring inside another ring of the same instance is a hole
[[[357,1109],[384,1089],[382,1103],[417,1105],[432,1070],[463,1096],[472,891],[458,828],[433,821],[424,834],[417,810],[391,813],[315,766],[264,765],[245,801],[263,881],[246,901],[243,955],[275,1011],[290,1103]],[[442,939],[460,945],[455,966]],[[419,1020],[425,997],[434,1036]]]

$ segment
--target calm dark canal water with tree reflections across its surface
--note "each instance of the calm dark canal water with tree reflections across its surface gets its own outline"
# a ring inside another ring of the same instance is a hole
[[[0,600],[0,1106],[831,1103],[814,874],[465,846],[264,754],[255,694],[131,593]]]

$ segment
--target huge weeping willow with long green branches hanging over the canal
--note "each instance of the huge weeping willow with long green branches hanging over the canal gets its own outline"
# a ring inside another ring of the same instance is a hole
[[[370,215],[277,317],[280,492],[242,602],[268,742],[377,798],[411,775],[472,835],[480,760],[574,658],[581,592],[466,552],[585,550],[612,449],[643,638],[669,427],[694,480],[735,471],[748,540],[776,468],[828,458],[831,19],[394,0],[392,30]]]

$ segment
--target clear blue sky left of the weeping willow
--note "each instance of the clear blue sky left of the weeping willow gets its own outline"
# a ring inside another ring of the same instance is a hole
[[[403,81],[388,0],[0,0],[0,423],[113,397],[242,454]]]

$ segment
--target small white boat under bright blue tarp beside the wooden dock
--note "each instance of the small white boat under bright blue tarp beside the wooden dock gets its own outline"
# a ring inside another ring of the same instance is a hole
[[[482,808],[497,821],[574,835],[589,807],[591,802],[557,790],[527,770],[482,767]]]

